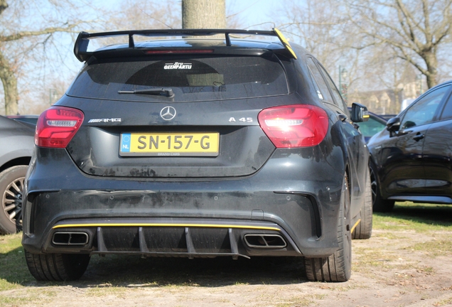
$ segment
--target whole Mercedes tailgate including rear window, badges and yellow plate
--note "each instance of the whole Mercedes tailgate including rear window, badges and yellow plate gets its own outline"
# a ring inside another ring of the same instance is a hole
[[[85,121],[68,145],[95,176],[248,176],[275,147],[257,115],[289,95],[274,54],[91,60],[58,105]]]

